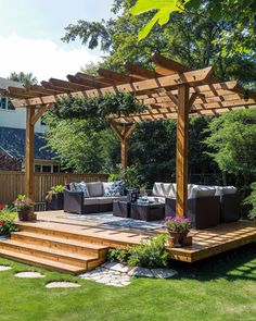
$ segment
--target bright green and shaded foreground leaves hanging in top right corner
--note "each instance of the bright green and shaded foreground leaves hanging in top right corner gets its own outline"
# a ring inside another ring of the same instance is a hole
[[[132,14],[143,14],[154,11],[153,17],[140,30],[140,39],[145,38],[158,23],[168,23],[175,12],[205,16],[214,22],[225,21],[232,28],[221,35],[227,49],[233,48],[240,52],[254,52],[256,45],[256,2],[255,0],[138,0],[130,10]],[[232,46],[231,46],[232,45]]]

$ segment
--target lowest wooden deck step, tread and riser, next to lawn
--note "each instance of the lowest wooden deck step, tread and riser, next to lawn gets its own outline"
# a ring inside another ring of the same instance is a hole
[[[8,239],[0,243],[1,248],[11,249],[13,251],[34,255],[35,257],[44,258],[49,260],[59,261],[62,263],[73,264],[87,269],[90,261],[99,260],[98,255],[74,254],[69,251],[53,249],[51,247],[21,243],[15,239]]]

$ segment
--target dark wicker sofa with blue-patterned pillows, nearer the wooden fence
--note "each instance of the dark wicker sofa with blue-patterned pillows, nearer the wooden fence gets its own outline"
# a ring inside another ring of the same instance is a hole
[[[74,188],[73,184],[74,183],[66,185],[66,189],[64,190],[65,212],[78,214],[110,212],[113,210],[114,200],[127,199],[121,182],[81,182],[81,185],[78,184],[79,186],[76,188]],[[85,190],[74,190],[80,189],[80,186],[82,186]],[[115,190],[112,190],[113,186]]]

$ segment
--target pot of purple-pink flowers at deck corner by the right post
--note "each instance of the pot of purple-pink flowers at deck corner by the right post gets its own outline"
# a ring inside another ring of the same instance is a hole
[[[165,219],[165,225],[170,235],[170,245],[184,246],[187,235],[191,229],[190,220],[187,218],[167,217]]]

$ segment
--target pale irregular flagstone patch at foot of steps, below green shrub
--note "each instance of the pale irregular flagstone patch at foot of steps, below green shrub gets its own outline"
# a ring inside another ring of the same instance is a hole
[[[108,262],[79,276],[105,285],[121,287],[130,284],[131,276],[169,279],[177,273],[171,269],[130,268],[121,263]]]

